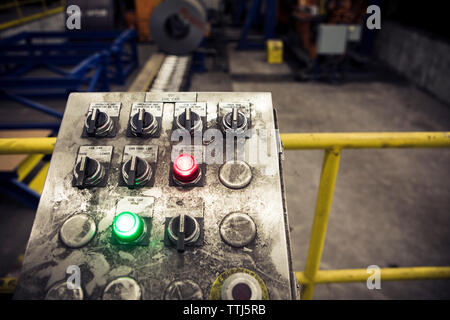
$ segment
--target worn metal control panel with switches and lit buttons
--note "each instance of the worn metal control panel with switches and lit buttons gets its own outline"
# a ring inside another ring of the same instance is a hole
[[[72,93],[16,299],[297,299],[270,93]]]

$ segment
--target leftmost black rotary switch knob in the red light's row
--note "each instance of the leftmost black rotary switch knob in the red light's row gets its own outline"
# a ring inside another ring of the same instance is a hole
[[[74,176],[76,187],[95,187],[104,178],[105,168],[97,160],[82,156],[75,165]]]

